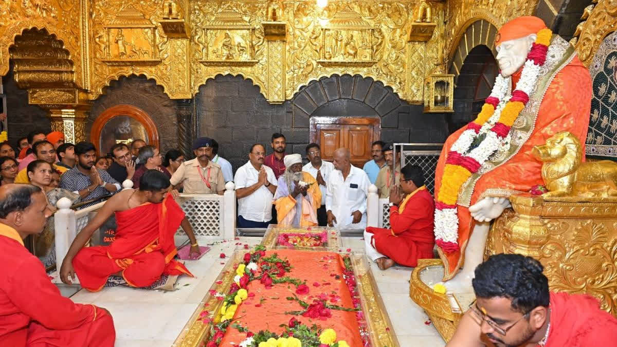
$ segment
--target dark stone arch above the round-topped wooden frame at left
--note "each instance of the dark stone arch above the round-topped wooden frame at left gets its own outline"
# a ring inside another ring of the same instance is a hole
[[[178,148],[178,120],[176,103],[164,92],[163,86],[145,75],[122,76],[106,87],[105,93],[93,101],[86,123],[86,138],[91,138],[94,122],[107,110],[119,105],[141,109],[152,119],[159,134],[162,153]]]

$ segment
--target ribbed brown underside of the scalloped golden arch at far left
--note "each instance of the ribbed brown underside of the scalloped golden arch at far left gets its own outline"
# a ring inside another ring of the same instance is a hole
[[[19,88],[74,88],[75,64],[64,42],[46,28],[24,29],[9,47]]]

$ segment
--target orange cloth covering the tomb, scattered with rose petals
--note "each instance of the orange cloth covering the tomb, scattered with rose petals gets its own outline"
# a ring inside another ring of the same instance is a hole
[[[309,294],[297,295],[298,298],[311,304],[313,303],[313,298],[323,293],[328,296],[328,303],[331,303],[329,295],[334,291],[337,296],[340,296],[340,299],[333,304],[343,307],[354,307],[351,295],[342,277],[345,265],[339,254],[276,249],[276,251],[266,251],[266,256],[271,256],[273,253],[278,254],[281,259],[289,259],[292,269],[286,275],[292,278],[299,278],[300,280],[307,280],[306,284],[310,288]],[[339,275],[340,279],[336,280],[330,274]],[[313,286],[313,283],[319,283],[320,285]],[[279,327],[279,325],[288,324],[291,317],[296,317],[302,324],[309,327],[317,324],[324,329],[333,328],[336,332],[337,341],[345,340],[349,346],[362,346],[356,312],[332,310],[332,317],[326,320],[292,316],[291,314],[284,314],[284,312],[302,310],[302,306],[299,303],[286,299],[286,297],[292,296],[292,293],[296,293],[294,285],[280,283],[273,285],[270,289],[266,289],[259,280],[253,280],[249,283],[247,290],[249,294],[254,293],[255,296],[246,299],[238,306],[233,319],[236,319],[234,323],[249,328],[251,332],[257,333],[259,330],[270,330],[271,332],[281,333],[284,329]],[[260,304],[260,299],[262,298],[264,301],[260,307],[255,307],[255,304]],[[238,332],[238,329],[230,327],[225,333],[220,346],[232,346],[232,343],[235,343],[237,346],[245,339],[246,333]]]

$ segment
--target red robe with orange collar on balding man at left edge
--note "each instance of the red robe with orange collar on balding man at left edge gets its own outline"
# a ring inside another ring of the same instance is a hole
[[[101,308],[60,295],[17,231],[0,224],[0,346],[112,347],[114,321]]]

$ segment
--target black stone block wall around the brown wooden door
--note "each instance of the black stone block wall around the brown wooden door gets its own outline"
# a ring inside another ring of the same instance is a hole
[[[448,132],[443,114],[424,114],[423,106],[407,104],[383,83],[359,75],[313,81],[283,104],[268,103],[250,80],[218,75],[199,88],[194,114],[199,136],[215,138],[234,170],[246,163],[253,143],[271,153],[274,132],[286,136],[288,153],[304,156],[312,116],[381,117],[384,141],[443,143]]]

